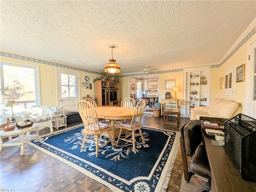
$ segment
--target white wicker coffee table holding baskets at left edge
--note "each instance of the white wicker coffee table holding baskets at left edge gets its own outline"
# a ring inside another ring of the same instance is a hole
[[[36,134],[34,135],[25,135],[27,132],[33,131],[36,129]],[[38,124],[34,123],[31,127],[27,127],[24,129],[17,129],[17,127],[13,131],[0,131],[0,136],[11,136],[11,135],[19,135],[18,137],[3,143],[2,138],[0,139],[0,151],[3,147],[6,146],[20,146],[20,156],[24,155],[24,145],[31,141],[32,139],[38,138],[40,142],[42,142],[41,138],[38,134]],[[9,137],[10,139],[10,137]]]

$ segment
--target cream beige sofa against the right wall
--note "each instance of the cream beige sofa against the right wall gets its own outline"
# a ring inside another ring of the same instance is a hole
[[[214,98],[210,102],[209,107],[195,106],[190,111],[190,120],[200,119],[200,117],[216,117],[230,119],[239,113],[242,113],[242,108],[235,101],[226,99]]]

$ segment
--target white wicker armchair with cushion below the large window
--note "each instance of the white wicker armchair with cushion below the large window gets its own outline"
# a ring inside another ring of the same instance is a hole
[[[52,128],[52,118],[53,118],[54,112],[44,105],[34,105],[32,107],[28,107],[24,109],[21,112],[20,117],[23,119],[23,121],[29,119],[30,121],[34,123],[38,123],[38,127],[43,128],[50,128],[50,132],[53,132]],[[29,133],[27,133],[29,134]]]

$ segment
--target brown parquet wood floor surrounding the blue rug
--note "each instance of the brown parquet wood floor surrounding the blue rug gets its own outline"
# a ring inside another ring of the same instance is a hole
[[[188,120],[188,118],[181,118],[180,123]],[[142,123],[144,126],[179,131],[176,127],[175,117],[170,117],[165,126],[162,117],[143,117]],[[49,129],[42,129],[39,134],[44,135],[48,132],[50,132]],[[8,140],[4,140],[4,142],[6,141]],[[111,192],[106,186],[29,144],[25,145],[24,156],[20,156],[20,147],[18,146],[2,148],[0,179],[1,191]],[[181,180],[182,158],[179,148],[167,192],[179,192]]]

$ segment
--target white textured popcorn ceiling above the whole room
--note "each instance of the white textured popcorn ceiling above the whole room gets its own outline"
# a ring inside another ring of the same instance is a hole
[[[1,0],[1,51],[121,73],[219,64],[256,1]]]

